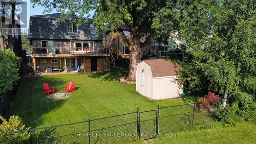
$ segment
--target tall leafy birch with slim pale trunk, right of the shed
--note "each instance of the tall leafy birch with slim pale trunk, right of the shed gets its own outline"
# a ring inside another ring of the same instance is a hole
[[[223,108],[234,101],[245,105],[240,98],[253,101],[256,90],[254,3],[180,0],[175,13],[169,9],[167,5],[160,10],[156,23],[175,14],[179,34],[193,56],[190,62],[197,71],[194,76],[200,79],[199,84],[222,94]],[[164,25],[157,29],[162,33],[169,31]],[[189,76],[191,71],[184,72],[183,76]],[[183,77],[183,82],[184,79],[186,83],[194,83],[193,79]],[[198,79],[195,79],[197,83]]]

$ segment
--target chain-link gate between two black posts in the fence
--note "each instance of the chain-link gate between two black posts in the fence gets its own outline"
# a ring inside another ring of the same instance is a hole
[[[142,111],[139,113],[140,118],[140,138],[151,139],[156,137],[157,129],[157,110]]]

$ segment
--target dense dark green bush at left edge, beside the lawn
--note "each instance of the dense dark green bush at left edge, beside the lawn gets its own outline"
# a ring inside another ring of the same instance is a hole
[[[19,79],[19,58],[11,51],[0,51],[0,95],[13,88]]]

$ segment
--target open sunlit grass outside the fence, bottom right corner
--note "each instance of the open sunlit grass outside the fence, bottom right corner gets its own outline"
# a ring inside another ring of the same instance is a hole
[[[255,125],[243,122],[237,126],[185,131],[179,137],[158,137],[147,143],[255,143],[255,129]]]

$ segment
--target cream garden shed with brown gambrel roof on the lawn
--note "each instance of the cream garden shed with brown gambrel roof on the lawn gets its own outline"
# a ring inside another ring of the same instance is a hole
[[[163,59],[141,61],[136,70],[136,91],[152,100],[180,97],[177,63]]]

